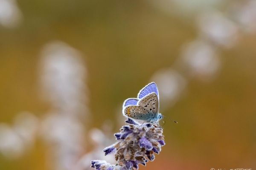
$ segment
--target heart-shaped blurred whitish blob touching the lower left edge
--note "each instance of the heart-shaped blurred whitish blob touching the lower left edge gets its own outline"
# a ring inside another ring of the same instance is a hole
[[[12,159],[20,157],[34,143],[38,119],[28,112],[17,115],[13,126],[0,124],[0,152]]]

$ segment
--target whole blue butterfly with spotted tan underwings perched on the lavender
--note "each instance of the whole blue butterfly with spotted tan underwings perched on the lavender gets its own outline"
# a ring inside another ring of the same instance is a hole
[[[158,124],[163,115],[159,113],[159,93],[156,83],[151,82],[142,88],[137,98],[126,99],[122,113],[133,119]]]

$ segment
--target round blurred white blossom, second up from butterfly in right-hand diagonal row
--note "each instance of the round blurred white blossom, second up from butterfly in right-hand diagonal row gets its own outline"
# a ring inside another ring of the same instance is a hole
[[[184,45],[182,59],[190,76],[211,78],[220,67],[216,48],[204,40],[194,40]]]

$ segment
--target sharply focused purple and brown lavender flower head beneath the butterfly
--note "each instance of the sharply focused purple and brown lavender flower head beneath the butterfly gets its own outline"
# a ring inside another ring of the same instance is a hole
[[[143,124],[132,119],[125,121],[119,133],[115,133],[117,142],[106,147],[105,155],[115,153],[116,164],[93,160],[91,167],[95,170],[138,170],[139,164],[146,165],[148,160],[154,160],[154,153],[161,151],[164,143],[163,128],[158,125]]]

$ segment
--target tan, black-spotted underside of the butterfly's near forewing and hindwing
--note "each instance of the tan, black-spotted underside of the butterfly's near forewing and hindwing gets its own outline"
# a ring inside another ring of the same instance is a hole
[[[128,105],[124,108],[123,113],[125,116],[146,120],[151,122],[155,114],[158,113],[158,98],[157,94],[151,93],[143,97],[138,105]]]

